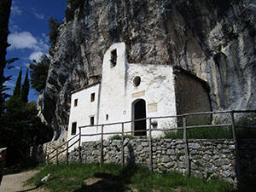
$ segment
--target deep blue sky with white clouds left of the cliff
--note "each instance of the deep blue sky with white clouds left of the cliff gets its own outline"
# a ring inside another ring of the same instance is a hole
[[[39,61],[40,55],[49,55],[49,17],[63,21],[65,17],[66,0],[13,0],[9,18],[8,42],[6,59],[19,58],[12,63],[12,69],[5,69],[5,76],[12,75],[5,83],[13,94],[16,79],[22,67],[22,83],[26,75],[26,68],[32,60]],[[28,101],[37,101],[38,93],[30,89]]]

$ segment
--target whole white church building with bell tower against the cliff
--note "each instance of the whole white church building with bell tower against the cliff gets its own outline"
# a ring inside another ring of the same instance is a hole
[[[79,126],[91,125],[82,129],[82,134],[94,134],[102,131],[102,126],[96,125],[177,115],[179,110],[178,101],[176,101],[178,89],[175,88],[177,74],[174,73],[172,66],[156,64],[128,63],[125,56],[125,43],[113,44],[103,58],[101,82],[72,92],[67,139],[79,133]],[[191,78],[189,79],[188,82],[191,81]],[[198,81],[198,78],[194,79],[197,79],[197,82],[202,81]],[[190,85],[187,84],[187,86]],[[181,87],[180,84],[179,87]],[[199,93],[195,95],[198,96]],[[201,111],[207,111],[207,109]],[[155,119],[153,128],[164,129],[175,126],[177,126],[176,119]],[[121,128],[121,124],[106,125],[104,133],[121,131]],[[148,120],[125,123],[124,128],[125,131],[146,130]],[[153,137],[158,137],[160,133],[160,131],[153,131],[152,134]],[[142,131],[132,135],[145,136],[146,134],[146,131]],[[104,139],[110,136],[104,136]],[[82,137],[82,142],[96,141],[100,137],[100,135]]]

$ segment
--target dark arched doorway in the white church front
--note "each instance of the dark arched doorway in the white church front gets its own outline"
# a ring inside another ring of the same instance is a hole
[[[146,102],[143,99],[139,99],[132,103],[132,120],[137,119],[143,119],[138,120],[133,123],[133,131],[139,131],[144,130],[140,132],[135,132],[134,136],[146,136],[146,128],[147,128],[147,122],[146,122]]]

